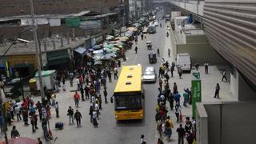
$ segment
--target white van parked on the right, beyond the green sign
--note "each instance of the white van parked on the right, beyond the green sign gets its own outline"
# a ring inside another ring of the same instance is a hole
[[[182,71],[191,71],[192,64],[191,64],[190,54],[178,53],[176,66],[181,66]]]

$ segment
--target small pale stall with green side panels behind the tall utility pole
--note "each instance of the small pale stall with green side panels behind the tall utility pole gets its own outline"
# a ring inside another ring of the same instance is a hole
[[[47,90],[54,90],[56,70],[43,70],[42,71],[42,85],[46,86]],[[35,74],[34,78],[37,82],[37,90],[40,90],[38,72]]]

